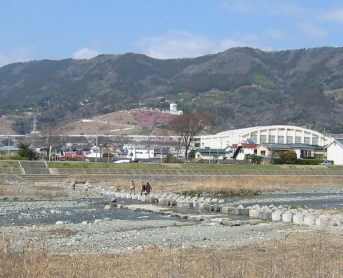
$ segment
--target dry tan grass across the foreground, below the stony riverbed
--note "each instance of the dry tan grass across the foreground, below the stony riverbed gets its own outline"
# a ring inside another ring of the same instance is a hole
[[[140,252],[63,256],[0,244],[0,277],[341,277],[342,235],[295,233],[232,248],[151,247]]]

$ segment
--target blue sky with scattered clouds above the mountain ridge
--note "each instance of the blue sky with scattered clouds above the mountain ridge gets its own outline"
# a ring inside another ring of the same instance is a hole
[[[196,57],[236,46],[343,46],[343,1],[0,0],[0,66],[101,53]]]

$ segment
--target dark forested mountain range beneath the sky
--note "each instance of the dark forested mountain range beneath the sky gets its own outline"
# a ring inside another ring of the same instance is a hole
[[[42,127],[140,106],[210,113],[218,130],[295,124],[343,132],[343,48],[232,48],[194,59],[141,54],[0,68],[0,113],[40,112]],[[28,125],[16,120],[21,132]]]

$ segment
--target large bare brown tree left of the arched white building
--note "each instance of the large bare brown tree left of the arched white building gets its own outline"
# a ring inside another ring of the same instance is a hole
[[[210,123],[208,116],[199,113],[187,113],[174,118],[169,124],[174,130],[185,147],[185,158],[188,158],[188,149],[194,138],[205,126]]]

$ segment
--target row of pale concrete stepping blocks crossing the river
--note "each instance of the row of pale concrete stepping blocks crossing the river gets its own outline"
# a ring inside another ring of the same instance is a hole
[[[173,194],[174,195],[174,194]],[[242,205],[238,207],[233,206],[222,206],[219,204],[210,204],[208,202],[202,202],[202,200],[192,200],[191,198],[168,198],[172,197],[170,194],[158,195],[151,194],[151,196],[140,196],[138,194],[116,192],[115,196],[117,198],[128,198],[136,199],[142,202],[156,203],[161,206],[176,206],[180,208],[198,208],[203,211],[210,212],[222,212],[224,214],[236,214],[236,215],[245,215],[250,218],[258,218],[263,220],[270,220],[275,222],[284,222],[284,223],[294,223],[298,225],[319,225],[319,226],[328,226],[328,225],[342,225],[343,224],[343,215],[320,215],[314,216],[308,211],[302,212],[298,210],[279,210],[274,206],[271,208],[264,207],[260,208],[258,205],[253,207],[244,208]],[[173,196],[174,197],[174,196]]]

